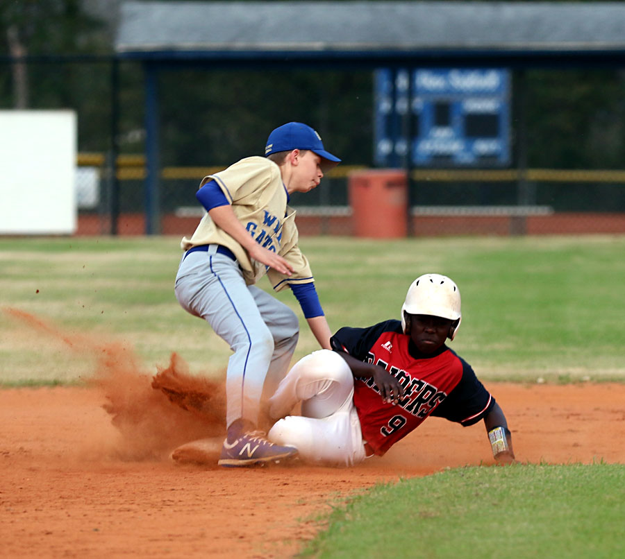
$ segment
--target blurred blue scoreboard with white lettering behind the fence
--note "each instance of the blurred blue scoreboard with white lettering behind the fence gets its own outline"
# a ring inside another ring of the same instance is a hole
[[[408,123],[408,124],[407,124]],[[379,69],[374,161],[401,166],[510,163],[510,76],[505,69]]]

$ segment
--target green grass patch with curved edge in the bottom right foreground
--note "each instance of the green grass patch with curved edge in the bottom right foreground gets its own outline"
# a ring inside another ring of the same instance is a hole
[[[378,485],[335,508],[301,557],[625,556],[625,467],[465,467]]]

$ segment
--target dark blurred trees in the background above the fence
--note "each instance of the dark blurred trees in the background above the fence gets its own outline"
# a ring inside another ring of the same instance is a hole
[[[78,148],[110,148],[113,28],[81,0],[4,1],[0,8],[0,109],[72,108]],[[15,62],[15,59],[22,62]],[[512,100],[519,95],[512,74]],[[625,74],[620,69],[527,69],[527,164],[621,169]],[[269,130],[310,123],[349,164],[373,165],[372,71],[172,69],[160,74],[163,165],[228,164],[262,153]],[[512,107],[516,104],[512,103]],[[512,111],[512,146],[519,129]],[[142,153],[140,65],[119,65],[122,153]]]

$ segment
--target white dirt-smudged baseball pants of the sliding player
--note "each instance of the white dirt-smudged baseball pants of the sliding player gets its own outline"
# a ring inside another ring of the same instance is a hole
[[[353,375],[337,353],[319,350],[300,359],[269,398],[272,418],[282,418],[301,402],[301,416],[274,424],[267,438],[297,447],[306,462],[353,466],[365,457],[358,413],[353,405]]]

